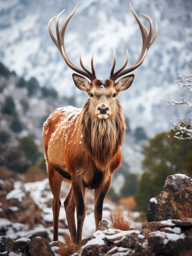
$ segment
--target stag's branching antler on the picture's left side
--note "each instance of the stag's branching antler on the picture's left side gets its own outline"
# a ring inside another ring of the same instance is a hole
[[[81,57],[81,53],[79,52],[79,61],[81,64],[82,69],[80,69],[79,67],[75,66],[68,58],[66,51],[65,51],[65,45],[64,45],[64,35],[65,35],[65,30],[66,30],[66,26],[69,22],[69,20],[71,19],[71,17],[73,16],[73,14],[75,13],[75,11],[77,10],[77,7],[79,5],[79,2],[77,3],[75,9],[69,14],[69,16],[66,18],[64,24],[62,25],[61,30],[59,31],[59,19],[60,16],[62,15],[62,13],[64,13],[65,9],[63,11],[61,11],[58,15],[57,18],[56,16],[51,18],[51,20],[49,21],[48,24],[48,29],[49,29],[49,35],[51,36],[51,39],[53,40],[53,43],[55,43],[55,45],[57,46],[57,48],[60,50],[61,55],[64,58],[64,61],[66,62],[66,64],[71,67],[71,69],[73,69],[74,71],[76,71],[79,74],[82,74],[84,76],[86,76],[88,79],[90,79],[91,81],[97,79],[95,76],[95,70],[94,70],[94,66],[93,66],[93,54],[91,57],[91,70],[92,72],[90,72],[89,70],[86,69],[86,67],[84,67],[83,62],[82,62],[82,57]],[[56,18],[56,36],[57,36],[57,40],[55,39],[55,37],[53,36],[53,33],[51,31],[51,22]]]

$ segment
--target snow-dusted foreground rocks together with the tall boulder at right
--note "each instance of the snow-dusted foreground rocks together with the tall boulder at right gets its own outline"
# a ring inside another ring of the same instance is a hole
[[[43,237],[45,234],[30,234],[16,240],[8,235],[2,235],[0,255],[190,256],[192,255],[191,198],[192,179],[181,174],[170,175],[163,191],[150,200],[148,222],[137,230],[134,227],[128,231],[114,229],[109,220],[102,220],[97,231],[84,238],[77,252],[71,254],[70,251],[66,254],[65,243],[50,242],[49,237],[47,239]]]

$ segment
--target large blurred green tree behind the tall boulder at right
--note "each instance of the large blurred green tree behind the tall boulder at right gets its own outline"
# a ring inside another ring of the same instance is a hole
[[[192,174],[192,141],[178,140],[175,131],[162,132],[149,140],[144,148],[145,159],[138,190],[135,195],[137,209],[146,211],[150,198],[162,190],[168,175]]]

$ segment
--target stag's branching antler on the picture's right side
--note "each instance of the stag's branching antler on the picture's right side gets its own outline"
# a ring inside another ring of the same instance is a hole
[[[109,78],[113,81],[115,81],[120,76],[123,76],[129,72],[132,72],[133,70],[135,70],[137,67],[139,67],[143,63],[143,61],[146,57],[146,53],[147,53],[148,49],[150,48],[150,46],[152,45],[152,43],[154,42],[155,38],[157,37],[157,33],[158,33],[158,26],[157,26],[157,23],[155,22],[155,32],[154,32],[154,36],[152,37],[153,22],[152,22],[151,18],[147,14],[141,13],[141,15],[143,17],[145,17],[150,24],[150,31],[148,33],[146,27],[142,24],[141,20],[139,19],[139,17],[135,13],[135,11],[132,9],[131,4],[129,4],[129,5],[130,5],[130,9],[132,11],[132,14],[135,16],[135,19],[137,20],[137,23],[141,29],[143,45],[142,45],[141,54],[140,54],[138,60],[132,66],[124,69],[128,63],[128,57],[129,57],[128,50],[127,50],[126,61],[125,61],[124,65],[119,70],[117,70],[117,72],[115,72],[115,74],[113,73],[114,69],[115,69],[115,63],[116,63],[116,54],[115,54],[115,48],[114,48],[113,66],[112,66],[112,69],[110,72],[110,78]]]

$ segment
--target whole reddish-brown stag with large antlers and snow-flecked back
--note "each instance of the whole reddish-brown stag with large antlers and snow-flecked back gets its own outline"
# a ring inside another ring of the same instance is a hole
[[[79,3],[78,3],[79,4]],[[128,51],[124,65],[114,72],[116,55],[114,49],[113,66],[109,79],[101,81],[96,78],[91,57],[91,71],[83,65],[75,66],[68,58],[64,46],[64,34],[67,24],[77,7],[66,18],[59,30],[60,12],[49,21],[49,34],[60,50],[64,61],[78,74],[73,74],[73,81],[79,90],[86,92],[88,99],[82,108],[67,106],[57,108],[44,123],[43,142],[46,166],[51,192],[53,193],[53,240],[58,239],[58,221],[60,211],[60,189],[62,181],[71,182],[71,189],[64,201],[68,228],[73,243],[79,243],[82,238],[82,227],[85,218],[84,195],[85,188],[94,189],[94,216],[96,229],[102,220],[103,201],[109,189],[113,172],[121,164],[121,145],[124,142],[126,130],[123,110],[117,99],[121,91],[127,90],[134,79],[134,74],[117,78],[132,72],[139,67],[148,49],[157,36],[157,23],[153,35],[153,22],[149,16],[142,14],[150,24],[150,31],[130,9],[141,30],[143,45],[138,60],[126,68]],[[56,37],[51,31],[51,22],[56,18]],[[79,74],[83,75],[80,76]],[[86,78],[90,81],[88,81]],[[75,225],[75,208],[77,211],[77,229]]]

